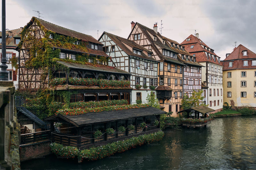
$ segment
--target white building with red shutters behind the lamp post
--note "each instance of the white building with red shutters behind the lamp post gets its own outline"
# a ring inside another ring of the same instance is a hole
[[[15,50],[17,45],[20,42],[20,32],[22,31],[23,27],[20,27],[19,29],[15,30],[8,30],[6,29],[6,59],[7,63],[6,65],[8,66],[7,71],[9,72],[9,80],[13,81],[13,85],[18,88],[18,76],[19,74],[17,73],[16,69],[13,67],[10,59],[12,56],[18,57],[19,52]],[[1,50],[1,59],[2,59],[2,32],[0,32],[0,50]]]

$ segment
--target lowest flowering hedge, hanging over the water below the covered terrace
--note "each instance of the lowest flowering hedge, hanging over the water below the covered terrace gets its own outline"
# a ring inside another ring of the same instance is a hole
[[[78,160],[98,160],[113,155],[114,153],[121,153],[127,151],[136,146],[143,144],[150,144],[156,141],[160,141],[164,137],[163,131],[155,133],[140,135],[138,137],[132,137],[123,141],[116,141],[108,143],[104,146],[92,147],[90,149],[78,150],[73,146],[63,146],[62,144],[52,143],[50,145],[51,151],[64,158],[75,158]]]

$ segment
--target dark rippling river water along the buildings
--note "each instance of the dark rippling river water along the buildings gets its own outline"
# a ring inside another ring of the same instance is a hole
[[[206,128],[165,129],[163,140],[93,162],[49,155],[22,169],[256,169],[256,116],[216,118]]]

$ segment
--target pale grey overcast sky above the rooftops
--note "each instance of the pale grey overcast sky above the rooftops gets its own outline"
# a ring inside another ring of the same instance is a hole
[[[1,3],[2,4],[2,3]],[[235,41],[256,53],[255,0],[6,0],[6,28],[25,26],[40,11],[42,19],[97,39],[103,31],[127,38],[131,22],[153,28],[163,20],[162,35],[181,43],[199,33],[215,53],[225,58]]]

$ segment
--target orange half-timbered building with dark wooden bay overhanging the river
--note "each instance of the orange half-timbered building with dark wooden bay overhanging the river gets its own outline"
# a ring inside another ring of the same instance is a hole
[[[151,57],[159,61],[156,97],[160,105],[165,107],[165,111],[172,111],[173,116],[177,116],[183,96],[182,67],[185,64],[178,59],[178,53],[169,47],[165,38],[157,32],[157,24],[154,24],[153,29],[133,21],[131,24],[132,31],[128,39],[152,51]]]

